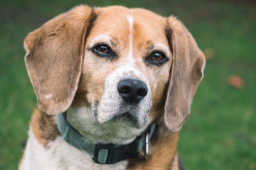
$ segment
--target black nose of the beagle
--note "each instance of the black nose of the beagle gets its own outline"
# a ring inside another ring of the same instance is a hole
[[[140,80],[124,79],[119,81],[117,90],[127,103],[139,103],[147,93],[147,85]]]

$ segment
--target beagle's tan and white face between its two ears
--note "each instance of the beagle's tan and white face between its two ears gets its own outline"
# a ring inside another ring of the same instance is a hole
[[[97,16],[86,39],[81,74],[90,81],[79,87],[97,121],[141,128],[149,113],[154,117],[159,104],[164,106],[172,63],[165,26],[163,17],[146,10],[112,7]]]

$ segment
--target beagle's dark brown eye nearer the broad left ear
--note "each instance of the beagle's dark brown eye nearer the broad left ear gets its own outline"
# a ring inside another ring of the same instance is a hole
[[[115,57],[115,53],[105,43],[98,43],[97,45],[93,46],[91,50],[99,57],[107,57],[110,59]]]

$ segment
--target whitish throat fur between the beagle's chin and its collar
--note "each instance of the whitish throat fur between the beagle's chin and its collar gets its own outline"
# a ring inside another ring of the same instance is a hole
[[[80,134],[92,143],[120,145],[131,143],[150,124],[150,122],[147,122],[141,129],[136,129],[122,122],[100,124],[93,117],[92,109],[86,106],[81,108],[70,107],[67,111],[67,120]]]

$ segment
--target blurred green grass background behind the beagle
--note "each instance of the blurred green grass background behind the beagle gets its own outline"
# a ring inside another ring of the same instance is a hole
[[[17,169],[36,96],[24,64],[28,32],[78,4],[141,7],[177,16],[207,57],[180,131],[187,169],[256,169],[256,3],[207,0],[1,0],[0,169]]]

